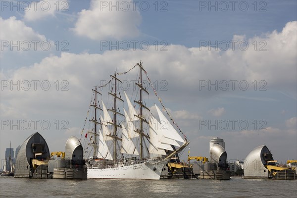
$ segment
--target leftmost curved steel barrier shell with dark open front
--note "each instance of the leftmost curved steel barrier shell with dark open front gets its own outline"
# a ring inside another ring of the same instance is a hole
[[[14,177],[29,177],[30,168],[33,168],[31,160],[36,158],[36,153],[41,153],[38,155],[41,159],[49,157],[48,144],[38,132],[29,136],[19,149],[16,157]]]

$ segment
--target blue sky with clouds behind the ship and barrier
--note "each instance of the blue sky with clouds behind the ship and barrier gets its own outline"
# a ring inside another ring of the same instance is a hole
[[[15,149],[37,131],[50,151],[81,138],[94,86],[140,60],[192,156],[209,156],[219,137],[229,161],[261,145],[279,162],[297,159],[296,8],[296,0],[0,0],[1,162],[9,141]],[[128,92],[132,74],[123,76]]]

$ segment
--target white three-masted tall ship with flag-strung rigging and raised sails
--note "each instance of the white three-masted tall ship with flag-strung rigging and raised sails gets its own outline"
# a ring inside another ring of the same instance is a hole
[[[119,86],[122,85],[119,76],[136,69],[137,78],[130,81],[133,87],[129,91],[133,93],[128,97],[123,86]],[[110,91],[105,103],[102,90]],[[149,90],[154,92],[162,110],[149,101]],[[189,145],[141,61],[126,72],[110,75],[106,84],[96,86],[92,92],[81,132],[88,178],[158,180],[165,164]]]

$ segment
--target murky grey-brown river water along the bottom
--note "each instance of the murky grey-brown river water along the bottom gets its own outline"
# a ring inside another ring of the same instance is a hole
[[[292,180],[59,180],[0,177],[0,198],[297,198]]]

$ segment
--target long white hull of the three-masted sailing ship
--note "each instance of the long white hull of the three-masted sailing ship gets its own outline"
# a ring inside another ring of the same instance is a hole
[[[159,180],[162,169],[168,160],[147,161],[138,164],[123,165],[116,168],[88,168],[88,178]]]

